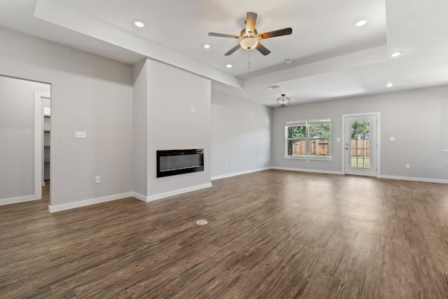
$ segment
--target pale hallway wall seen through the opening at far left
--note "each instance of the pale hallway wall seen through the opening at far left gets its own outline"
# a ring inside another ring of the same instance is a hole
[[[0,202],[34,195],[34,92],[50,85],[0,76]]]

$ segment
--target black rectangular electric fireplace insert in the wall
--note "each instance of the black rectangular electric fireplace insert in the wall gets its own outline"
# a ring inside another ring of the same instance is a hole
[[[204,148],[157,151],[157,177],[204,171]]]

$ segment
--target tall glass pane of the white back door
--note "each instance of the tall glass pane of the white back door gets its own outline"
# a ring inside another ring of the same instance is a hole
[[[370,120],[351,122],[351,167],[370,168]]]

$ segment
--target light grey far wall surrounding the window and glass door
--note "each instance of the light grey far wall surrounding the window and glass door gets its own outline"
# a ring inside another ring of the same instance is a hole
[[[448,180],[448,153],[440,151],[448,149],[447,85],[274,109],[272,165],[342,172],[341,143],[336,141],[342,138],[342,114],[365,112],[381,113],[381,176]],[[316,118],[332,119],[333,161],[284,159],[285,122]],[[407,163],[410,169],[405,168]]]

